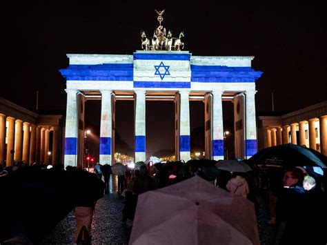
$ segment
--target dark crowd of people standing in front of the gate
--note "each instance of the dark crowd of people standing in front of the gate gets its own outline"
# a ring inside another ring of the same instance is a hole
[[[253,174],[255,171],[230,173],[218,170],[212,172],[214,174],[209,173],[214,163],[214,161],[204,159],[191,160],[187,163],[181,161],[159,163],[152,166],[141,163],[137,169],[124,166],[125,169],[119,172],[119,175],[116,174],[118,175],[117,193],[125,198],[122,224],[125,226],[128,219],[130,221],[134,219],[137,198],[142,193],[199,175],[215,184],[217,188],[224,188],[232,195],[248,198],[252,202],[255,202],[256,188],[267,190],[271,217],[268,224],[275,227],[275,244],[326,244],[324,226],[321,225],[326,220],[326,195],[321,181],[316,176],[308,175],[304,168],[299,167],[263,168],[267,175],[260,175],[261,180],[257,181],[257,176]],[[75,186],[75,191],[79,193],[73,197],[75,200],[72,204],[77,224],[75,237],[77,243],[90,241],[95,202],[104,194],[110,193],[109,181],[110,175],[113,174],[112,167],[110,164],[95,165],[95,173],[92,175],[98,179],[99,183],[102,183],[96,185],[97,190],[90,189],[85,192]],[[62,165],[55,165],[52,168],[52,166],[46,165],[27,167],[23,164],[15,164],[7,168],[0,166],[0,179],[4,179],[2,177],[11,175],[17,170],[26,170],[26,168],[43,169],[52,171],[52,173],[56,173],[56,171],[87,173],[86,170],[72,166],[67,166],[64,171]],[[264,184],[262,184],[263,180]],[[59,179],[57,182],[59,183]],[[60,191],[63,191],[63,188]],[[92,192],[97,194],[90,195]]]

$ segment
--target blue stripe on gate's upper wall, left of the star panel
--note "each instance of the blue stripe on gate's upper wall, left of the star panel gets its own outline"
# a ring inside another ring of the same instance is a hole
[[[132,63],[104,63],[101,65],[70,65],[60,70],[68,80],[77,81],[133,81]]]

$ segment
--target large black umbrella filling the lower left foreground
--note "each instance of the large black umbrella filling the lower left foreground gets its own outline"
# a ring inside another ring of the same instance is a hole
[[[0,186],[0,243],[25,235],[37,244],[73,208],[103,196],[103,182],[82,170],[17,170],[0,177]]]

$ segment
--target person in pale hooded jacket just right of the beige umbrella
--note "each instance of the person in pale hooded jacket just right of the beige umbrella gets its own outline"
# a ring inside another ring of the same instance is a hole
[[[226,188],[237,197],[246,197],[250,193],[248,182],[241,173],[232,173],[232,178],[227,182]]]

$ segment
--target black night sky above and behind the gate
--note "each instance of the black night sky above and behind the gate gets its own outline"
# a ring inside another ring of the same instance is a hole
[[[164,27],[174,37],[184,30],[184,50],[192,55],[255,56],[252,68],[264,72],[256,82],[257,111],[272,110],[271,92],[277,111],[299,110],[326,100],[327,28],[322,5],[161,2],[28,1],[4,6],[0,96],[34,110],[39,90],[40,110],[65,111],[66,85],[59,69],[68,66],[66,54],[132,55],[141,49],[140,30],[151,37],[157,28],[155,9],[165,9]],[[173,108],[169,103],[159,107],[159,119],[170,124]],[[117,108],[125,110],[118,121],[133,118],[130,104]],[[158,106],[149,104],[149,108],[152,115]],[[88,117],[92,121],[99,115]],[[123,121],[120,125],[120,131],[132,127]]]

